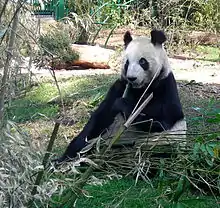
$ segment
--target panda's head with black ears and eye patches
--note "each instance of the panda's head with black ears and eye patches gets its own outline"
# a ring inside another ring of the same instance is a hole
[[[170,72],[168,58],[162,44],[166,37],[162,31],[152,30],[151,38],[132,38],[130,32],[124,35],[124,58],[122,77],[133,88],[142,88],[150,83],[155,73],[166,77]]]

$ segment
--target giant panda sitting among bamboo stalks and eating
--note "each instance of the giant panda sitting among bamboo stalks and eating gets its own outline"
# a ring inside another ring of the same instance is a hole
[[[144,99],[151,92],[153,98],[134,120],[137,123],[135,128],[152,134],[162,132],[172,134],[173,130],[185,132],[186,123],[177,84],[163,48],[166,36],[163,31],[155,29],[150,35],[150,38],[133,38],[129,31],[124,34],[120,78],[113,83],[105,99],[91,114],[83,130],[70,142],[57,162],[75,158],[89,140],[108,132],[117,115],[123,115],[126,120],[153,77],[154,81]],[[130,87],[127,95],[123,97],[126,85]]]

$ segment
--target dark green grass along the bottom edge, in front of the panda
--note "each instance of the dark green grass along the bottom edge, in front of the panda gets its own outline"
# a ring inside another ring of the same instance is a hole
[[[162,184],[163,183],[163,184]],[[185,192],[179,200],[179,206],[170,202],[175,192],[176,183],[174,179],[155,181],[154,187],[149,183],[139,180],[137,184],[132,178],[108,180],[102,185],[86,185],[84,196],[76,202],[76,208],[155,208],[155,207],[194,207],[211,208],[216,206],[216,201],[211,196],[202,196],[196,193]],[[62,199],[61,199],[62,200]],[[51,207],[57,208],[59,199],[54,197]],[[70,208],[65,206],[65,208]]]

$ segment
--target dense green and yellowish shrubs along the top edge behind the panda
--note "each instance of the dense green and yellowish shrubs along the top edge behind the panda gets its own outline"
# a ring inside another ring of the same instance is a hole
[[[160,26],[162,28],[220,29],[218,0],[137,1],[77,0],[66,1],[70,15],[90,15],[94,22],[112,25]]]

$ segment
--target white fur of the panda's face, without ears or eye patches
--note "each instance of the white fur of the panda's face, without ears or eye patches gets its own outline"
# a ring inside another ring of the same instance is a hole
[[[139,64],[139,60],[145,58],[149,63],[149,70],[144,71]],[[124,72],[124,65],[129,60],[127,73]],[[171,67],[168,62],[166,51],[162,45],[154,45],[148,37],[134,37],[123,52],[122,61],[122,76],[137,77],[133,82],[133,87],[141,88],[148,84],[153,75],[159,75],[160,70],[163,70],[161,78],[167,77],[171,72]]]

